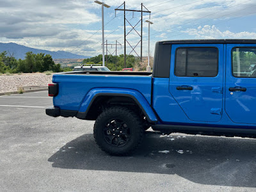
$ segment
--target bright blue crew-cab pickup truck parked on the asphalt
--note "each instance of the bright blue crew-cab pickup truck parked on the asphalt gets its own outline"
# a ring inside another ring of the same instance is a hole
[[[95,120],[102,150],[129,154],[152,127],[256,137],[256,40],[157,42],[153,72],[62,72],[49,84],[49,116]]]

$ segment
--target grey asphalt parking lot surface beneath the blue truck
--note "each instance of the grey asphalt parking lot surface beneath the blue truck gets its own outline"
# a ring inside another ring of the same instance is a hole
[[[147,135],[102,152],[91,121],[52,118],[47,92],[0,97],[0,191],[256,191],[256,140]]]

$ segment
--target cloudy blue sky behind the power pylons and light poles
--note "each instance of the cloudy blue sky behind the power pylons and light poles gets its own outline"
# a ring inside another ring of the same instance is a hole
[[[104,33],[108,44],[122,44],[117,54],[124,54],[124,12],[116,11],[124,1],[106,0]],[[128,0],[125,8],[141,10],[141,3],[151,13],[143,13],[143,56],[150,55],[162,40],[254,38],[256,39],[256,0]],[[36,49],[68,51],[84,56],[102,53],[101,5],[88,0],[0,0],[0,42],[13,42]],[[124,6],[120,6],[121,9]],[[143,10],[146,10],[143,8]],[[139,12],[125,12],[126,33],[141,19]],[[129,24],[131,23],[131,25]],[[141,22],[135,29],[141,33]],[[140,36],[132,29],[127,35],[134,47]],[[127,47],[127,54],[132,49]],[[106,46],[105,46],[106,47]],[[106,48],[105,48],[106,49]],[[115,54],[115,46],[108,46]],[[135,51],[140,55],[140,44]],[[136,53],[131,52],[134,56]]]

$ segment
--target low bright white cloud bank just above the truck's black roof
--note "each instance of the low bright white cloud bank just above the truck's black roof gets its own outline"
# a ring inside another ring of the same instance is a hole
[[[205,25],[204,27],[199,26],[195,29],[187,29],[182,31],[182,33],[187,33],[188,35],[195,36],[195,38],[256,38],[256,33],[242,31],[239,33],[234,33],[231,31],[220,31],[216,26]]]

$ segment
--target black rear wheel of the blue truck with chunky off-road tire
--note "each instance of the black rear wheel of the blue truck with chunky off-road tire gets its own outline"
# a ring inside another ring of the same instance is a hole
[[[93,128],[93,136],[99,147],[111,155],[126,155],[141,144],[143,122],[130,109],[115,106],[103,111]]]

